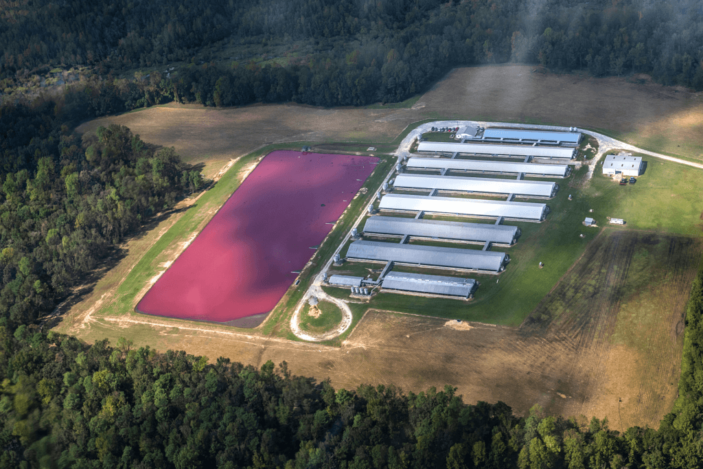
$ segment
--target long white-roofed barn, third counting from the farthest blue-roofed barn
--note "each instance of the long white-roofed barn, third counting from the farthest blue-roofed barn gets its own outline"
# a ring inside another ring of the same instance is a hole
[[[569,165],[517,163],[509,161],[456,160],[450,158],[410,158],[408,169],[453,169],[455,171],[489,174],[526,174],[528,176],[566,177]]]

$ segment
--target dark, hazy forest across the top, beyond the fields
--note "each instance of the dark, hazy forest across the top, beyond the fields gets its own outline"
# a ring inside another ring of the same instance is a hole
[[[645,72],[703,89],[703,7],[645,0],[167,0],[3,2],[0,89],[63,65],[93,115],[162,100],[204,105],[402,101],[459,65],[534,63],[592,75]],[[241,44],[292,44],[282,62],[229,60]],[[196,60],[197,58],[197,60]],[[197,61],[197,63],[196,63]],[[173,74],[166,65],[179,65]],[[189,63],[189,65],[188,65]],[[115,77],[135,68],[155,77]],[[171,76],[172,75],[172,76]]]

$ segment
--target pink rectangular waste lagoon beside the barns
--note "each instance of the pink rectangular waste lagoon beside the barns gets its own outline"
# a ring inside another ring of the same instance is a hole
[[[378,158],[352,155],[269,153],[136,310],[216,322],[268,313],[375,162]]]

